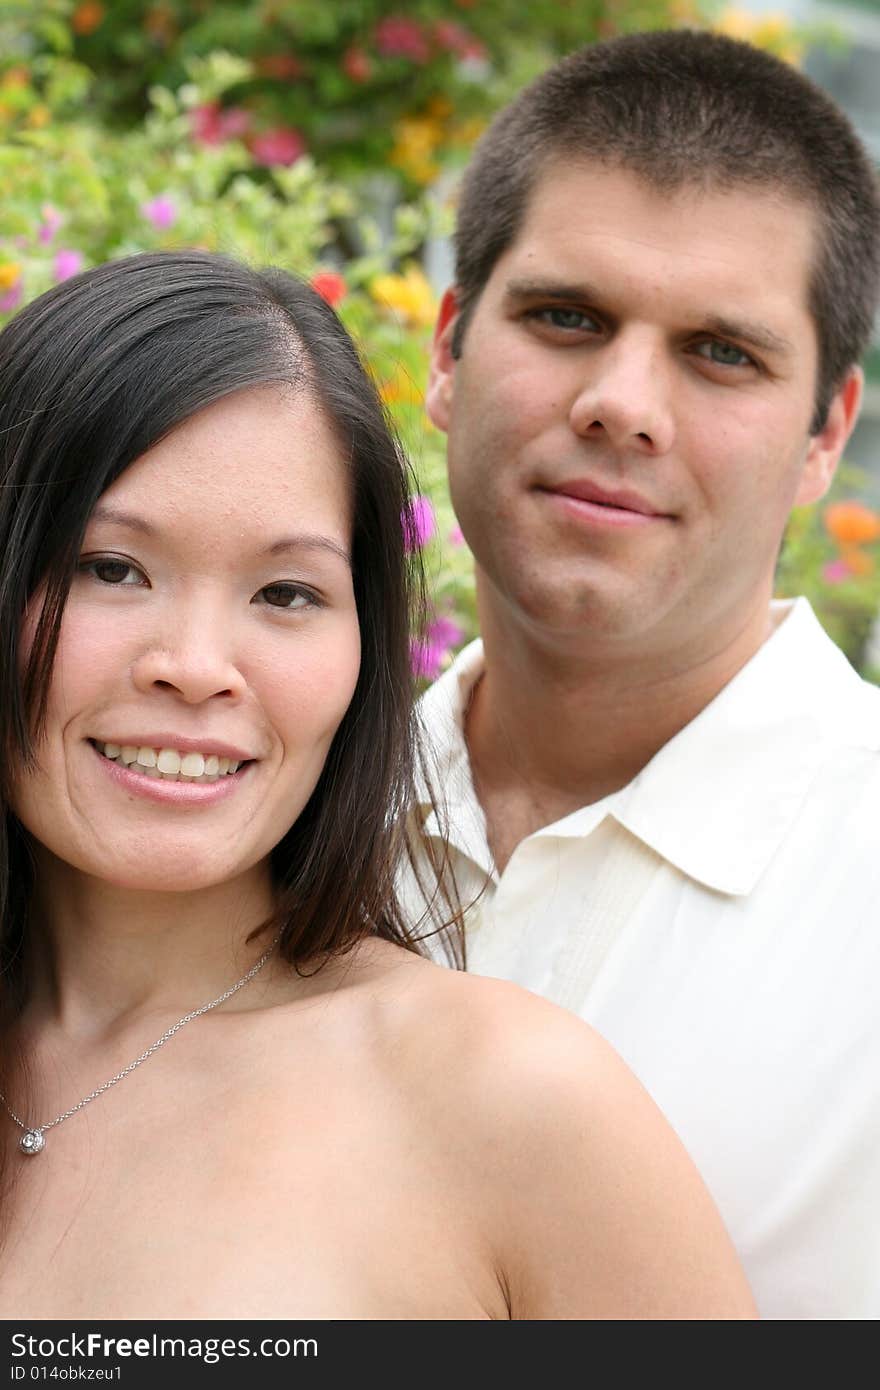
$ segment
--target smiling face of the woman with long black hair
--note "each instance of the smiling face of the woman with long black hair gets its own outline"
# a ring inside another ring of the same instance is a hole
[[[357,681],[350,546],[346,466],[303,392],[238,392],[138,459],[86,530],[39,767],[13,798],[31,834],[140,890],[263,860]]]

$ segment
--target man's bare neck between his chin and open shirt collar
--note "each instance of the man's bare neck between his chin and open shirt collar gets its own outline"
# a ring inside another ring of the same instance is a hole
[[[485,674],[466,714],[474,788],[500,872],[527,835],[626,787],[755,655],[762,600],[699,655],[598,659],[539,646],[482,614]]]

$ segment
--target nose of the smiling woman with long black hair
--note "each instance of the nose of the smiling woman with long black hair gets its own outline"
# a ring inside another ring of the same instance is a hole
[[[234,656],[228,616],[207,603],[175,605],[145,641],[132,680],[145,694],[164,689],[186,705],[239,699],[246,681]]]

